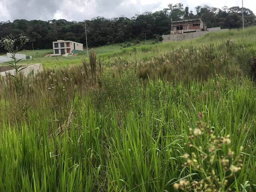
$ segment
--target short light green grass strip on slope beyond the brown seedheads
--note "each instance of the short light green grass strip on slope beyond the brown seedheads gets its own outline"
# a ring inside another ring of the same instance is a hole
[[[246,30],[229,30],[218,33],[209,33],[203,37],[196,38],[193,40],[185,40],[181,42],[168,42],[165,44],[156,43],[152,45],[154,40],[148,40],[147,45],[145,45],[144,41],[141,41],[140,44],[134,46],[134,41],[127,43],[120,43],[108,46],[100,46],[97,48],[91,48],[90,51],[96,52],[98,58],[102,58],[102,60],[114,59],[116,57],[127,59],[136,59],[136,60],[148,60],[151,57],[154,57],[156,53],[166,52],[171,49],[176,49],[179,47],[188,47],[188,46],[202,46],[202,45],[210,45],[214,46],[223,44],[223,42],[228,39],[232,39],[234,41],[239,41],[240,44],[250,44],[251,51],[255,52],[256,44],[255,40],[255,27],[247,28]],[[123,48],[124,45],[130,43],[131,46],[127,48]],[[22,61],[21,64],[30,64],[30,63],[42,63],[44,68],[56,68],[56,67],[66,67],[72,65],[80,65],[82,60],[86,58],[86,51],[78,54],[78,56],[73,57],[47,57],[44,58],[44,55],[52,53],[52,50],[34,50],[36,54],[36,58],[34,58],[33,51],[27,50],[22,51],[20,53],[26,53],[27,55],[31,55],[33,57],[32,60]]]

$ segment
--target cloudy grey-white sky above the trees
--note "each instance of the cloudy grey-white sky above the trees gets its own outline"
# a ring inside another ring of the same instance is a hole
[[[242,0],[0,0],[0,21],[66,19],[82,21],[96,16],[132,17],[145,11],[154,12],[168,4],[182,2],[194,10],[195,6],[242,6]],[[244,7],[256,14],[256,0],[244,0]]]

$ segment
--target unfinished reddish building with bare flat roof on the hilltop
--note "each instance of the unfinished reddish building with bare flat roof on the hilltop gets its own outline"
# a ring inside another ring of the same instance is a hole
[[[171,34],[183,34],[191,32],[207,31],[207,26],[201,19],[173,21]]]

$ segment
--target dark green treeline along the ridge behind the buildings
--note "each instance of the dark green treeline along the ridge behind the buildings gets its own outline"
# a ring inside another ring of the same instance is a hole
[[[221,9],[210,6],[197,6],[196,13],[190,11],[183,4],[169,4],[168,8],[157,12],[145,12],[132,18],[119,17],[107,19],[103,17],[86,20],[88,44],[90,47],[114,44],[131,39],[153,38],[154,34],[169,34],[171,20],[201,18],[208,28],[241,28],[242,8],[223,7]],[[245,26],[256,25],[256,16],[244,8]],[[30,44],[26,49],[52,48],[52,41],[63,39],[85,44],[84,22],[66,20],[14,20],[13,22],[0,22],[0,37],[8,34],[28,36]],[[0,48],[0,52],[3,48]]]

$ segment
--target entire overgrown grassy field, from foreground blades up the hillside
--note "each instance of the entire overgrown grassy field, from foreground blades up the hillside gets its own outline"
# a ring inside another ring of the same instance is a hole
[[[94,52],[0,78],[0,191],[256,191],[256,27]]]

